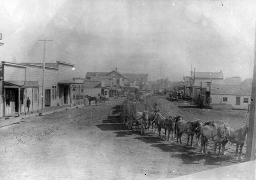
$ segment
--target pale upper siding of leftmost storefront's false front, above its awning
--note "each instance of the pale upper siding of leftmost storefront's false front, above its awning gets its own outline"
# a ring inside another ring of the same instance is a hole
[[[24,67],[4,66],[4,81],[25,81]]]

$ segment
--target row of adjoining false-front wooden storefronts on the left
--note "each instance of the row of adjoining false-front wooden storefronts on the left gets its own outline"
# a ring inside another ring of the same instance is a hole
[[[73,64],[60,61],[46,63],[44,97],[42,97],[42,63],[2,62],[0,117],[19,116],[20,113],[27,114],[28,97],[31,101],[31,113],[40,112],[45,106],[81,104],[83,100],[77,102],[73,94],[76,93],[76,89],[79,89],[80,92],[84,85],[72,81],[73,67]]]

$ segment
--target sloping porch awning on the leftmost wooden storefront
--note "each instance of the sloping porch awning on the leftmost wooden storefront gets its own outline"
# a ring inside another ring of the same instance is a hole
[[[39,88],[38,81],[4,81],[4,88]]]

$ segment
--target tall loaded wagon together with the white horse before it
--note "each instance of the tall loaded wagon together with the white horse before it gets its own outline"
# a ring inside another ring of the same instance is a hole
[[[137,127],[141,125],[142,131],[143,125],[147,125],[145,123],[148,121],[148,111],[145,111],[145,109],[147,109],[146,104],[125,98],[122,104],[122,123],[127,125],[129,130],[131,130],[134,125]]]

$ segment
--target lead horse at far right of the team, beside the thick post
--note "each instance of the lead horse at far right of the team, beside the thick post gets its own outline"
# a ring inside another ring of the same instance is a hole
[[[225,145],[227,144],[228,141],[230,141],[231,143],[236,143],[237,144],[235,157],[237,157],[237,155],[238,155],[238,149],[239,149],[239,146],[240,146],[240,155],[239,155],[239,157],[240,157],[240,159],[243,159],[242,158],[242,149],[243,149],[244,143],[247,140],[247,132],[248,132],[248,123],[246,123],[246,125],[244,125],[239,130],[236,130],[236,131],[233,128],[230,128],[230,136],[227,136],[222,141],[222,152],[223,152],[223,154],[225,155]]]

